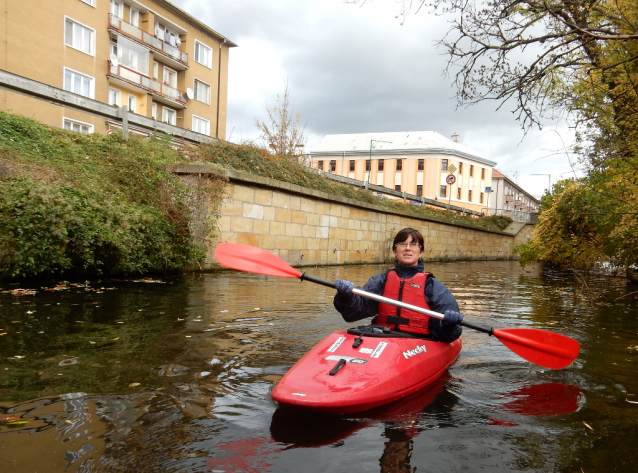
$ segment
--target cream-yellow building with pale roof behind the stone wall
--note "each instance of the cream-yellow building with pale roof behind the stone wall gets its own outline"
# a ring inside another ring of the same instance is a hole
[[[486,209],[496,165],[458,135],[435,131],[326,135],[309,159],[315,169],[477,212]]]

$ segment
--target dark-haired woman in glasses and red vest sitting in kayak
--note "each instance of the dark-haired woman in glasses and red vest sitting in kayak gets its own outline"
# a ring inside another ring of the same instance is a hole
[[[450,343],[461,336],[458,323],[463,320],[459,305],[447,287],[432,275],[423,272],[423,235],[414,228],[404,228],[394,237],[392,252],[394,269],[372,276],[363,286],[366,292],[443,313],[443,320],[363,298],[352,293],[354,283],[338,279],[334,306],[346,322],[376,316],[375,325],[393,330],[427,335]]]

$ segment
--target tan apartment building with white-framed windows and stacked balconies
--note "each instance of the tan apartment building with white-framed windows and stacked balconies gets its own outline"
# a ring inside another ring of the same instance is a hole
[[[0,69],[225,138],[229,49],[236,45],[170,2],[6,0],[0,24]],[[82,133],[120,126],[7,89],[0,89],[0,107]]]

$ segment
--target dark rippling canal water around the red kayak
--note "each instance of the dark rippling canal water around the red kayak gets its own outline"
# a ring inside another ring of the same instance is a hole
[[[638,471],[638,286],[427,265],[466,319],[553,330],[570,367],[465,329],[430,389],[349,416],[290,412],[277,381],[347,327],[334,291],[247,273],[0,287],[0,471]],[[383,266],[309,269],[362,285]],[[26,289],[26,291],[25,291]]]

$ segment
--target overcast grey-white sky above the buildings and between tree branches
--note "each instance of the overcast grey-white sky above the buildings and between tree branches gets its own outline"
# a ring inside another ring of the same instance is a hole
[[[255,139],[287,81],[306,124],[306,147],[330,133],[433,130],[496,161],[525,190],[541,195],[572,176],[565,124],[527,136],[495,102],[458,108],[436,42],[449,25],[422,10],[403,25],[395,0],[172,0],[238,44],[230,52],[227,139]]]

